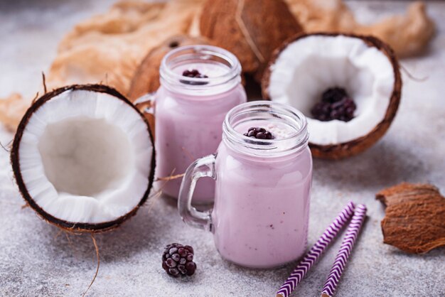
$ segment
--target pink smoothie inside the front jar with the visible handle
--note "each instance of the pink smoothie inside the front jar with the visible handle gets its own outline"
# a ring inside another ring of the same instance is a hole
[[[235,130],[244,134],[251,126],[271,131],[275,139],[296,131],[271,120],[241,123]],[[304,254],[312,172],[308,147],[284,156],[254,156],[223,141],[216,171],[212,223],[223,258],[242,266],[271,268]]]

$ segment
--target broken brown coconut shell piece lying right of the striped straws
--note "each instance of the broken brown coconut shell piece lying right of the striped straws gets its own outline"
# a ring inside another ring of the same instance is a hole
[[[386,205],[385,244],[414,254],[445,246],[445,198],[434,185],[401,183],[375,197]]]

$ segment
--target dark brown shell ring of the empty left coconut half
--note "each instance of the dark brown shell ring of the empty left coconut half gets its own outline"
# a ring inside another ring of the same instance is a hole
[[[122,217],[118,217],[116,220],[109,221],[109,222],[103,222],[99,224],[90,224],[90,223],[80,223],[80,222],[67,222],[65,220],[60,220],[56,217],[53,217],[53,215],[48,214],[48,212],[45,212],[31,197],[31,195],[28,193],[28,189],[26,188],[26,185],[24,183],[23,177],[21,175],[21,168],[20,168],[20,156],[18,153],[18,148],[21,143],[21,138],[23,136],[23,131],[26,128],[26,125],[28,124],[29,119],[31,119],[31,116],[34,112],[36,112],[37,109],[39,109],[45,102],[48,102],[50,99],[53,99],[53,97],[60,95],[63,92],[70,91],[70,90],[86,90],[86,91],[92,91],[92,92],[102,92],[107,93],[109,95],[112,95],[116,97],[117,99],[121,99],[123,102],[129,105],[132,109],[136,110],[136,112],[139,113],[142,119],[144,119],[144,122],[147,126],[147,131],[149,133],[151,143],[154,144],[153,136],[151,135],[150,131],[150,125],[149,122],[146,120],[143,114],[139,112],[136,107],[132,104],[132,102],[129,101],[124,95],[117,92],[117,90],[113,89],[112,87],[108,87],[106,85],[70,85],[67,87],[61,87],[59,89],[53,90],[51,92],[46,93],[39,99],[37,99],[31,107],[29,107],[26,114],[23,116],[23,119],[21,119],[20,124],[18,125],[18,129],[16,132],[16,135],[14,137],[14,142],[11,149],[11,165],[12,169],[14,171],[14,177],[16,178],[16,183],[18,185],[18,189],[20,190],[21,195],[26,200],[28,205],[35,210],[38,215],[40,215],[43,220],[46,222],[49,222],[52,225],[55,225],[57,227],[60,227],[61,229],[65,229],[68,232],[90,232],[90,233],[98,233],[98,232],[105,232],[112,229],[115,229],[119,227],[123,222],[128,220],[130,217],[136,215],[137,210],[139,210],[139,207],[146,202],[147,198],[149,197],[149,192],[151,190],[151,186],[153,185],[154,181],[154,168],[155,168],[155,151],[153,149],[152,158],[151,158],[151,173],[150,176],[147,178],[149,179],[149,185],[146,189],[146,192],[144,193],[143,197],[141,197],[141,200],[139,201],[138,205],[134,207],[133,210],[128,212],[126,215],[123,215]]]

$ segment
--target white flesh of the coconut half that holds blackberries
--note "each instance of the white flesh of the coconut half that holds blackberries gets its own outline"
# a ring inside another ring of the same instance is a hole
[[[398,69],[387,53],[362,38],[314,34],[286,44],[268,71],[263,81],[266,97],[306,115],[310,144],[335,146],[370,134],[385,119]],[[312,107],[331,87],[344,88],[354,100],[352,120],[313,119]]]

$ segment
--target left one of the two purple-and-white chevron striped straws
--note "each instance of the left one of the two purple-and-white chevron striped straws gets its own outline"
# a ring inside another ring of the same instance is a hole
[[[331,225],[325,230],[323,235],[318,239],[316,244],[309,252],[304,256],[303,260],[295,267],[294,271],[291,273],[289,278],[284,282],[283,286],[277,291],[277,297],[288,297],[295,287],[300,283],[301,279],[304,278],[307,271],[311,269],[311,266],[317,261],[318,257],[323,254],[324,250],[332,242],[332,239],[337,236],[340,229],[345,225],[346,222],[353,216],[355,205],[353,202],[349,202],[348,205],[343,208],[340,214],[336,217]]]

